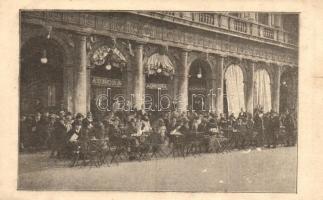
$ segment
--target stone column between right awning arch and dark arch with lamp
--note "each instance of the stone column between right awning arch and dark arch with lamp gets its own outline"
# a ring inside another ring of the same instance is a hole
[[[188,51],[181,52],[181,66],[178,70],[178,109],[179,111],[186,111],[188,106]]]

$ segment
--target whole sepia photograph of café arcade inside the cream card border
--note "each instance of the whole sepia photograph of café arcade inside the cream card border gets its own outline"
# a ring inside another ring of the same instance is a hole
[[[17,190],[297,193],[299,18],[20,10]]]

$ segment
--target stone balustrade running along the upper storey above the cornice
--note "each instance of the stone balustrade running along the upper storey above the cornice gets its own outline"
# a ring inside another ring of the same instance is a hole
[[[243,34],[246,36],[253,36],[255,38],[265,39],[280,44],[287,44],[297,46],[297,34],[286,32],[277,27],[260,24],[252,20],[246,20],[231,16],[226,13],[204,13],[204,12],[191,12],[190,14],[183,14],[184,12],[137,12],[142,15],[150,15],[178,22],[195,27],[229,30]],[[165,17],[167,16],[167,17]],[[192,23],[193,22],[193,23]],[[248,37],[250,38],[250,37]]]

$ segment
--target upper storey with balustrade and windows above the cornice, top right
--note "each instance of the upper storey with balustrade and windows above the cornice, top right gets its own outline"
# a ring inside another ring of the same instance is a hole
[[[135,11],[139,15],[297,49],[298,14]]]

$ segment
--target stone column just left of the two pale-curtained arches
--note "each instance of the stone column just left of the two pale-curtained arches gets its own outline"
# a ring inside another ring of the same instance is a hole
[[[223,81],[224,81],[224,57],[220,56],[218,62],[218,87],[216,88],[216,112],[223,113]]]

